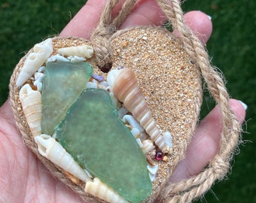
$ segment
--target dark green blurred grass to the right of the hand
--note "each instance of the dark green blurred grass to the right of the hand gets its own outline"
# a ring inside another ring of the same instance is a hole
[[[256,3],[253,0],[200,1],[188,0],[184,11],[200,10],[212,17],[213,32],[207,43],[212,63],[224,73],[227,89],[233,98],[248,105],[243,126],[240,153],[233,161],[232,173],[227,180],[216,183],[203,202],[256,202]],[[212,107],[209,95],[205,96],[203,111]],[[200,202],[200,201],[199,201]]]

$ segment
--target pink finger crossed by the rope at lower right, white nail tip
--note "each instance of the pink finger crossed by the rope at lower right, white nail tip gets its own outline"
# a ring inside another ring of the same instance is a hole
[[[245,119],[245,108],[237,100],[230,99],[230,108],[236,119],[242,124]],[[175,168],[170,178],[171,182],[184,180],[199,174],[209,163],[209,160],[218,152],[218,144],[221,138],[221,111],[216,106],[197,127],[195,136],[187,147],[185,159]]]

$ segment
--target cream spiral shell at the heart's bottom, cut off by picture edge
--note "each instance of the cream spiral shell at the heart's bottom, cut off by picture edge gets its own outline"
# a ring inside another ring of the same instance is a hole
[[[120,197],[117,192],[114,192],[113,189],[106,186],[97,177],[93,178],[93,181],[86,183],[84,191],[111,203],[128,203],[128,201]]]

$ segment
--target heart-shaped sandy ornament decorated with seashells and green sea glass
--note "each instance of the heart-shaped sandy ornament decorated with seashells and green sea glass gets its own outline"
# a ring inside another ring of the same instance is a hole
[[[14,117],[50,172],[90,202],[153,202],[183,159],[201,77],[178,38],[144,27],[111,37],[112,68],[92,43],[48,38],[11,77]]]

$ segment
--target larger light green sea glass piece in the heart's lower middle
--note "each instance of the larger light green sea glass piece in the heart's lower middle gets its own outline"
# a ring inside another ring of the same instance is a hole
[[[147,161],[103,89],[85,89],[56,129],[74,159],[123,198],[139,202],[152,192]]]

